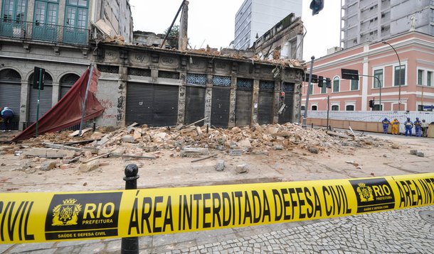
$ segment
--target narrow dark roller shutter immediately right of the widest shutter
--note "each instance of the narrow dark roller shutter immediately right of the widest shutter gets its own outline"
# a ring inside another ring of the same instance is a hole
[[[186,87],[185,124],[194,123],[205,117],[205,87]],[[196,123],[203,126],[203,121]]]

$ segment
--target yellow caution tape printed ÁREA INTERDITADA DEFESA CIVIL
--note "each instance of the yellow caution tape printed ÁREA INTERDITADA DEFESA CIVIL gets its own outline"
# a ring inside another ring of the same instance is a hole
[[[434,204],[434,173],[113,192],[1,193],[0,243],[124,238]]]

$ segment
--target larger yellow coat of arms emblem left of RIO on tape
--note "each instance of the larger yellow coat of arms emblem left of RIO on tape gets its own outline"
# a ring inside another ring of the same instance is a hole
[[[77,202],[77,199],[65,199],[63,200],[63,204],[55,206],[51,226],[77,225],[81,204],[75,204],[75,202]]]

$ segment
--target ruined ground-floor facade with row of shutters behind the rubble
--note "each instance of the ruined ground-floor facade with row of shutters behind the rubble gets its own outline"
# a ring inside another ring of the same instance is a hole
[[[176,126],[201,120],[223,128],[236,125],[237,94],[250,101],[238,112],[248,112],[248,124],[258,123],[258,109],[270,114],[268,123],[285,119],[300,121],[300,84],[303,67],[293,62],[267,62],[196,52],[179,52],[140,45],[100,43],[95,62],[102,72],[97,97],[106,106],[100,125],[125,126],[137,122],[148,126]],[[273,70],[278,68],[280,75]],[[278,113],[284,101],[281,83],[292,104]],[[265,86],[265,88],[264,88]],[[261,89],[271,101],[261,108]],[[237,91],[243,90],[243,93]],[[241,95],[239,95],[241,96]],[[250,98],[249,98],[250,96]],[[241,98],[240,98],[241,99]],[[265,110],[263,110],[265,109]],[[240,114],[240,113],[238,113]],[[242,121],[240,121],[241,123]]]

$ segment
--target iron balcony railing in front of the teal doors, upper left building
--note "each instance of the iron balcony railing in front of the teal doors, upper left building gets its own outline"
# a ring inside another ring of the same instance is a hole
[[[1,37],[41,40],[51,43],[88,45],[89,35],[90,31],[85,28],[8,19],[2,19],[0,21]]]

